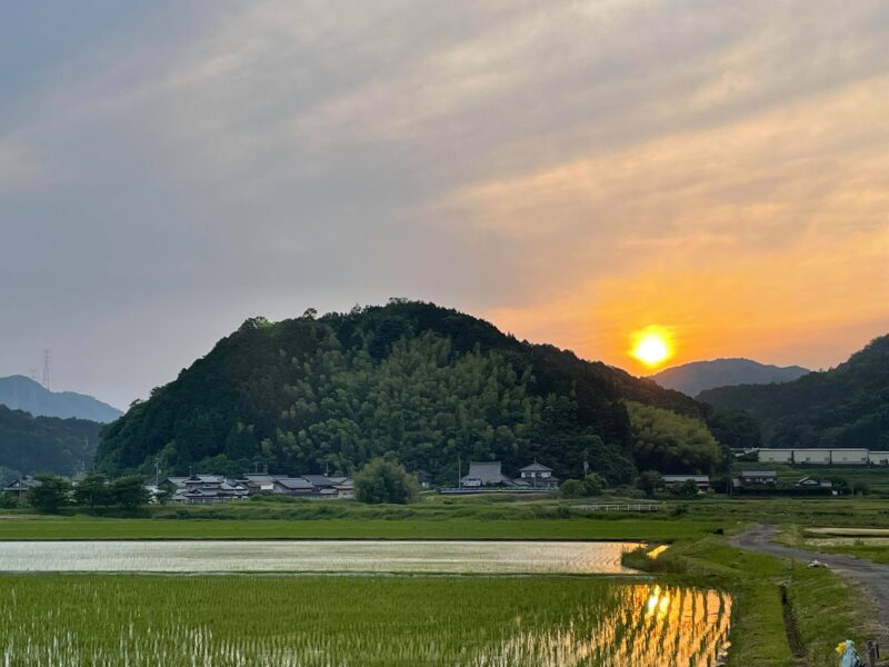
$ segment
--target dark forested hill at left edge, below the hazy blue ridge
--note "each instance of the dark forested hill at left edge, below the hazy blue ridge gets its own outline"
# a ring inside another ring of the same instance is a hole
[[[0,476],[73,475],[92,461],[100,424],[84,419],[33,417],[0,406]]]

